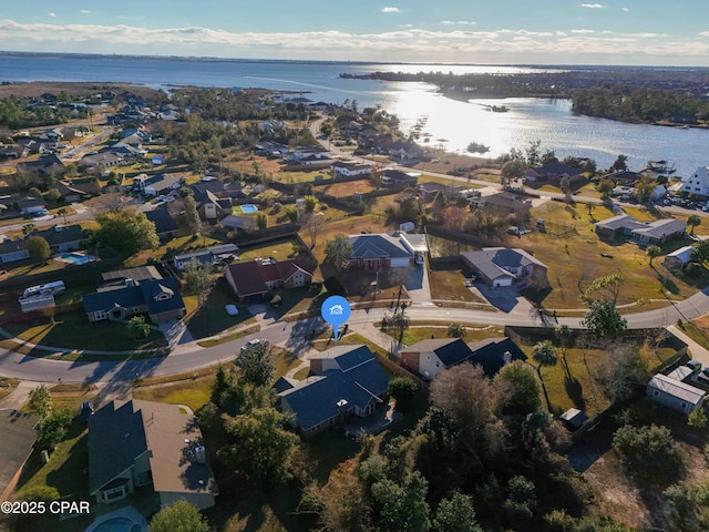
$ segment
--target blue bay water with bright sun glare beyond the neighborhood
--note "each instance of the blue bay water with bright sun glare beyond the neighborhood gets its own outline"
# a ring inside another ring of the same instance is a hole
[[[541,141],[541,149],[557,156],[594,158],[608,167],[619,154],[631,170],[649,160],[666,160],[677,174],[690,175],[709,164],[709,131],[625,124],[574,115],[566,100],[505,99],[461,102],[442,96],[435,86],[415,82],[340,79],[339,74],[374,71],[405,72],[527,72],[530,68],[496,65],[383,64],[298,61],[229,61],[201,59],[0,55],[0,81],[131,82],[153,88],[178,85],[265,88],[302,91],[314,101],[341,104],[357,100],[359,108],[381,105],[397,114],[404,132],[422,124],[420,142],[465,153],[470,142],[490,146],[495,157],[512,147],[524,150]],[[506,113],[486,105],[505,105]],[[429,139],[427,143],[424,139]]]

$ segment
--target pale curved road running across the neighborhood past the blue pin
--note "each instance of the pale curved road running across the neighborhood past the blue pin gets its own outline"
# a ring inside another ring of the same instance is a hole
[[[350,324],[373,323],[390,311],[386,308],[353,310]],[[513,325],[527,327],[556,327],[568,325],[580,328],[580,318],[558,318],[536,315],[504,314],[489,310],[471,310],[463,308],[439,308],[434,305],[413,305],[407,310],[412,320],[424,321],[462,321],[470,324]],[[705,289],[684,301],[667,308],[629,314],[625,317],[628,327],[634,329],[666,327],[678,319],[695,319],[709,313],[709,289]],[[307,337],[312,329],[321,329],[319,318],[308,318],[295,323],[279,321],[261,329],[259,332],[239,340],[210,348],[201,348],[195,342],[178,346],[164,358],[127,360],[123,362],[68,362],[48,360],[45,358],[19,355],[12,351],[0,351],[0,375],[22,380],[43,382],[126,382],[137,377],[163,376],[193,371],[230,360],[239,347],[250,338],[264,338],[271,344],[285,345],[295,354],[308,348]]]

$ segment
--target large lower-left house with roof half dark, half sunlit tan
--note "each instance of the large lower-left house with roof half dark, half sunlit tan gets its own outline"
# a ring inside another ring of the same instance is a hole
[[[194,415],[177,405],[111,401],[89,418],[89,493],[112,503],[141,487],[161,505],[184,499],[199,510],[218,494]]]

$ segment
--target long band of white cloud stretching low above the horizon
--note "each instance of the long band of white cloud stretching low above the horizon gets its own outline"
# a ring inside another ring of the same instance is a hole
[[[661,39],[658,39],[660,37]],[[382,32],[336,30],[235,33],[202,27],[19,23],[0,19],[0,50],[81,52],[245,59],[579,64],[709,63],[709,31],[664,33],[566,32],[439,25],[436,30],[397,28]],[[146,52],[148,51],[150,52]]]

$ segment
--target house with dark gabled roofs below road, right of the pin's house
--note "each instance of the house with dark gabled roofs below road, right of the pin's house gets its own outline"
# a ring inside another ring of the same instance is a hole
[[[505,364],[526,360],[524,352],[510,338],[487,338],[465,344],[460,338],[421,340],[400,351],[400,364],[425,380],[433,380],[444,369],[470,362],[494,377]]]

